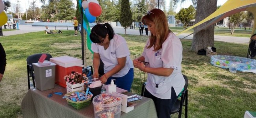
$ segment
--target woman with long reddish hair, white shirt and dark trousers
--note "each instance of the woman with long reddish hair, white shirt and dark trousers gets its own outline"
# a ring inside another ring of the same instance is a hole
[[[134,67],[148,73],[144,96],[154,101],[158,118],[170,118],[185,85],[181,73],[182,43],[169,30],[167,18],[160,9],[148,11],[142,22],[148,26],[150,37],[142,56],[134,59]]]

